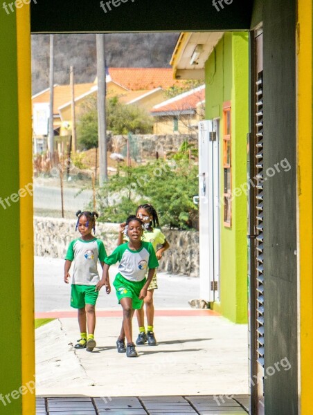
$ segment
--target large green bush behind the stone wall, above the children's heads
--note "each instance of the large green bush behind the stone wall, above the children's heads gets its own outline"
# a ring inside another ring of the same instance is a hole
[[[140,203],[152,203],[160,224],[170,228],[197,227],[198,167],[189,160],[154,160],[138,167],[120,167],[97,195],[102,220],[125,221]]]

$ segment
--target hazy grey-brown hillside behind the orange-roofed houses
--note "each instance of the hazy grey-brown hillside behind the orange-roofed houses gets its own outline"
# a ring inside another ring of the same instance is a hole
[[[178,33],[115,33],[105,35],[107,66],[170,67]],[[49,35],[32,35],[32,93],[48,88]],[[75,82],[96,77],[96,35],[55,35],[55,84],[69,84],[69,67]]]

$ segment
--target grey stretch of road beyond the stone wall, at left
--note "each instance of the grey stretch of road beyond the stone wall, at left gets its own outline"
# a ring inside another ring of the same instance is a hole
[[[76,212],[78,208],[85,208],[91,201],[92,191],[73,187],[64,188],[64,210]],[[34,185],[34,207],[36,209],[61,210],[61,191],[60,187]]]

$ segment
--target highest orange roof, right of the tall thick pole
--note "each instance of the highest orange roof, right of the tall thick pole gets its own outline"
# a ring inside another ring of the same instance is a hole
[[[181,81],[173,79],[172,68],[109,68],[109,76],[113,82],[132,91],[181,84]]]

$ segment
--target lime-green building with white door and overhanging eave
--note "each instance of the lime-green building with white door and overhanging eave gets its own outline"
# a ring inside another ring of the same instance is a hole
[[[200,295],[231,321],[244,323],[247,195],[231,192],[247,181],[242,152],[249,131],[247,33],[181,33],[170,63],[179,79],[205,79],[209,121],[199,124]]]

